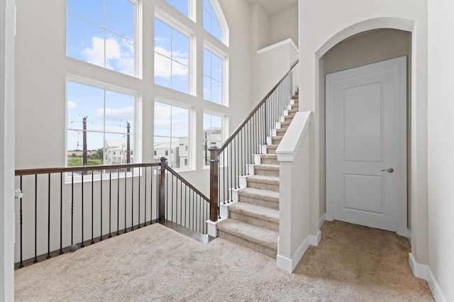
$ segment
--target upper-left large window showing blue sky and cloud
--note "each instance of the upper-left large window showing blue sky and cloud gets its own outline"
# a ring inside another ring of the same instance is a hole
[[[67,56],[135,76],[135,1],[67,0]]]

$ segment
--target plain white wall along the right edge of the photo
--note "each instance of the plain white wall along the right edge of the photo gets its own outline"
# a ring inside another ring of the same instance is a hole
[[[428,264],[446,301],[454,301],[453,16],[453,1],[428,1]]]

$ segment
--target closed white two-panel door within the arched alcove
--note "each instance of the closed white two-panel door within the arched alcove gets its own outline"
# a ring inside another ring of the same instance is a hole
[[[326,75],[326,216],[406,234],[406,57]]]

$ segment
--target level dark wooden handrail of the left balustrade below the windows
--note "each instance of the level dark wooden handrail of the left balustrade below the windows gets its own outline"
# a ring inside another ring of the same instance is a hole
[[[31,174],[49,174],[49,173],[65,173],[65,172],[81,172],[92,170],[109,170],[109,169],[128,169],[137,167],[159,167],[159,162],[141,163],[141,164],[99,164],[92,166],[80,167],[57,167],[57,168],[40,168],[40,169],[18,169],[16,176],[31,175]]]

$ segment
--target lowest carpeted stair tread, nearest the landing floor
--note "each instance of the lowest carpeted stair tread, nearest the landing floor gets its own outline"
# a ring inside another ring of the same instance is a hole
[[[229,218],[218,223],[217,228],[236,237],[277,251],[277,237],[279,237],[279,233],[274,230],[267,230],[256,225],[250,225],[249,223],[243,223],[242,221]]]

